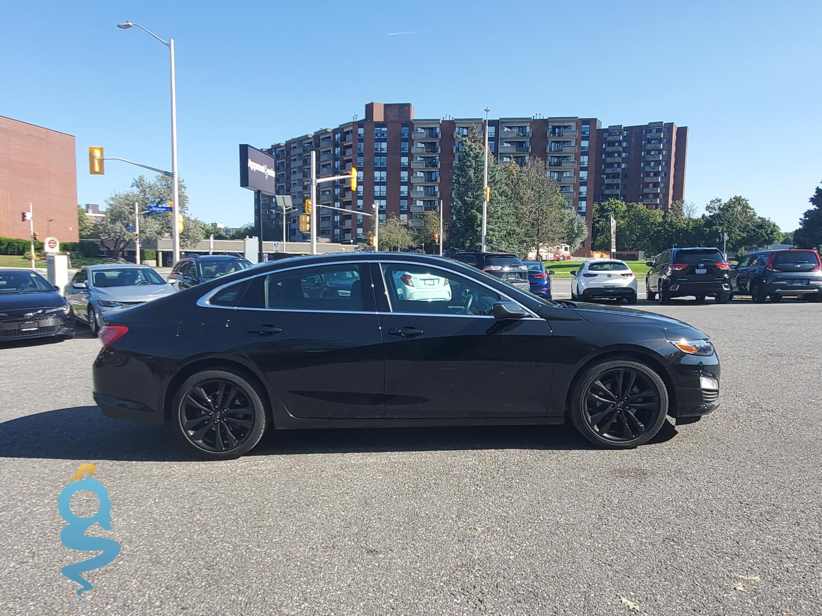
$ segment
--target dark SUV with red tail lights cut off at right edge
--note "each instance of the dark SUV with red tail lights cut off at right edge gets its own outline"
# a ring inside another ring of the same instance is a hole
[[[815,251],[758,251],[731,266],[731,291],[762,303],[797,296],[822,301],[822,262]]]

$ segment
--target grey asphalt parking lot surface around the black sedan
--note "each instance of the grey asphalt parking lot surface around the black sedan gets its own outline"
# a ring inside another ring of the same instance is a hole
[[[307,430],[196,462],[99,414],[85,330],[2,348],[0,611],[820,614],[822,306],[636,307],[711,335],[723,404],[624,452],[564,426]],[[113,500],[89,534],[122,545],[85,601],[57,508],[81,462]]]

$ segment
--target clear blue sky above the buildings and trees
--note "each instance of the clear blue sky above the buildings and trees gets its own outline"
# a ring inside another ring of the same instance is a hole
[[[818,0],[0,0],[0,115],[76,136],[80,203],[141,172],[111,161],[90,176],[90,145],[169,169],[169,51],[116,27],[132,21],[175,40],[179,173],[205,222],[253,219],[238,144],[376,100],[416,117],[688,126],[686,201],[742,195],[792,231],[822,182],[820,18]]]

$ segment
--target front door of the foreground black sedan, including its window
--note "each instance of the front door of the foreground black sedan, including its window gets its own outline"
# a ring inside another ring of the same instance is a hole
[[[384,276],[372,270],[376,297],[387,297],[394,310],[380,314],[386,417],[547,416],[554,349],[544,319],[494,319],[487,313],[504,298],[450,270],[382,268]],[[448,278],[450,299],[402,299],[395,280],[404,274]]]

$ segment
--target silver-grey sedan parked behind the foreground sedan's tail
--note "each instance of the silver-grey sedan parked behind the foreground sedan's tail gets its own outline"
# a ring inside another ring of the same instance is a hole
[[[89,265],[79,269],[66,285],[63,296],[72,305],[76,319],[89,324],[93,336],[106,323],[106,316],[145,301],[172,295],[174,287],[145,265]]]

